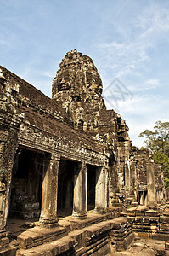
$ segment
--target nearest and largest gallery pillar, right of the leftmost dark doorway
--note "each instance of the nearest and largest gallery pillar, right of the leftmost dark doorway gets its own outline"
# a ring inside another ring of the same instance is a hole
[[[54,228],[58,226],[56,212],[59,159],[52,155],[51,159],[45,162],[43,166],[42,209],[39,225],[44,228]]]

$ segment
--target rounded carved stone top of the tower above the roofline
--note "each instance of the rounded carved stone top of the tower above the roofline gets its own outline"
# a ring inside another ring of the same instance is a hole
[[[102,81],[93,61],[86,55],[71,51],[60,64],[53,83],[53,97],[60,91],[67,91],[71,96],[83,92],[94,92],[101,96]]]

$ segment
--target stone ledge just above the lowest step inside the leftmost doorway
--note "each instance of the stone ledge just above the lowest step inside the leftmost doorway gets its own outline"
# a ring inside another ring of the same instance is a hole
[[[12,202],[12,210],[16,211],[31,211],[31,210],[39,210],[40,204],[38,201],[20,201]]]

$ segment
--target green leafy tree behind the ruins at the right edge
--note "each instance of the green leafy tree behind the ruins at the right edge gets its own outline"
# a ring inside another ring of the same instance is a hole
[[[145,130],[139,137],[144,137],[144,145],[152,152],[155,164],[161,164],[167,187],[169,187],[169,122],[155,122],[154,131]]]

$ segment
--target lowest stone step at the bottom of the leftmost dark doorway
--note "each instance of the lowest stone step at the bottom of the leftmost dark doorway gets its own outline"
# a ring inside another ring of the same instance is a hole
[[[40,210],[31,210],[31,211],[16,211],[11,210],[11,217],[21,218],[21,219],[31,219],[31,218],[39,218]]]

